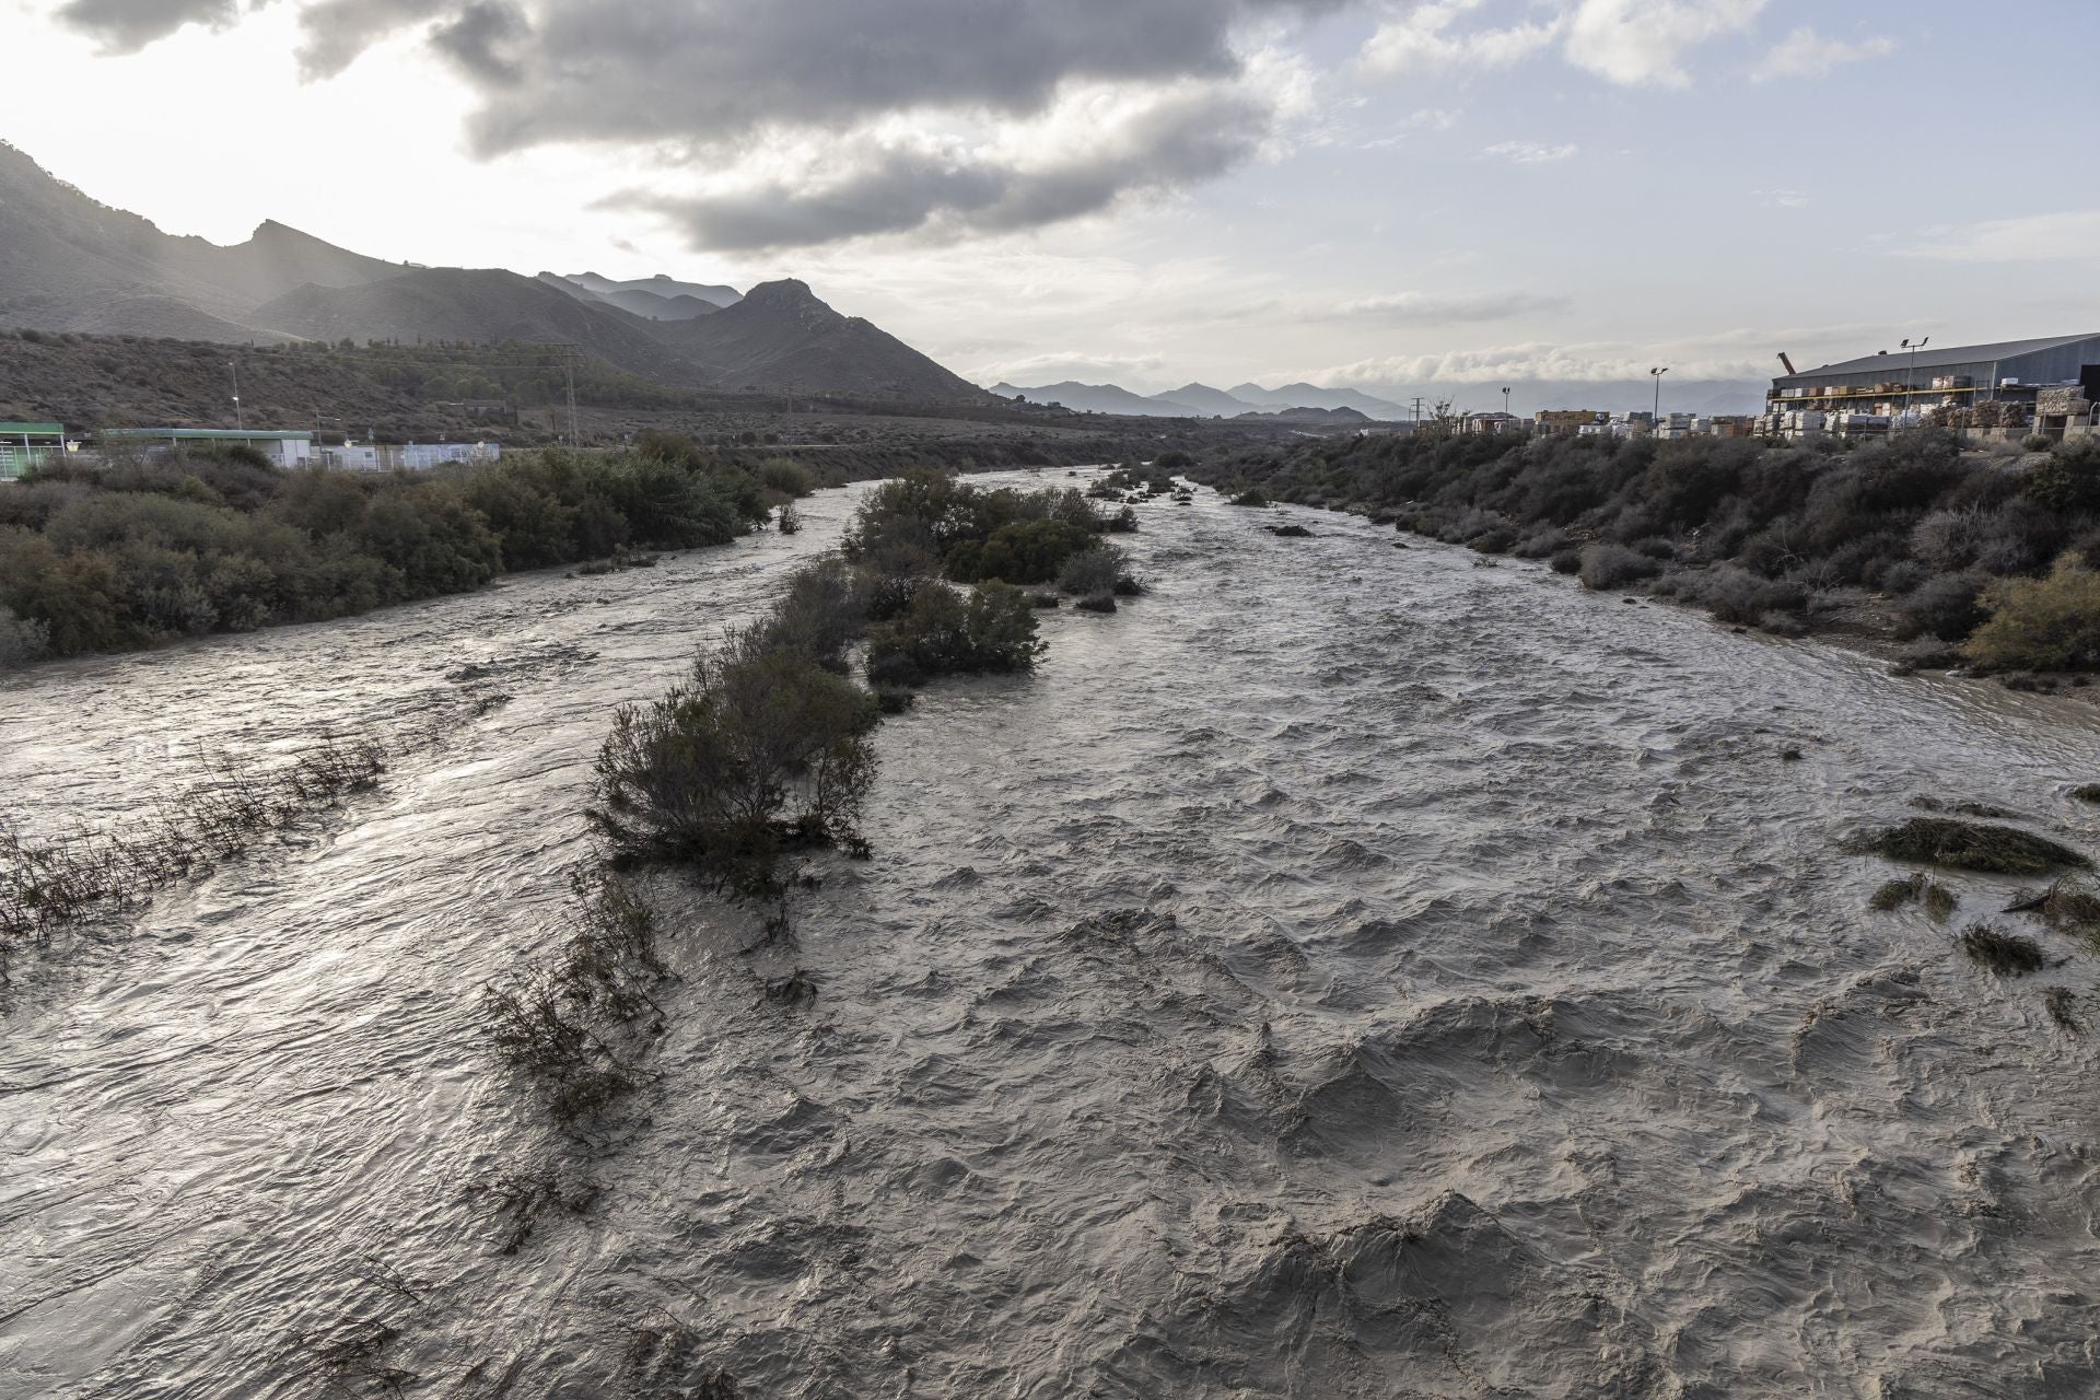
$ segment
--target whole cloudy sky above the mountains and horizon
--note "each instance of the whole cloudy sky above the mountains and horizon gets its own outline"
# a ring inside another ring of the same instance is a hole
[[[2100,325],[2100,4],[0,0],[172,233],[798,275],[962,374],[1766,378]]]

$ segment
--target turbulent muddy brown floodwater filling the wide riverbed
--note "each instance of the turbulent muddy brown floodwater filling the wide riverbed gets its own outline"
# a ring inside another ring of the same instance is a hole
[[[1838,854],[1915,796],[2092,848],[2085,709],[1340,516],[1147,508],[1151,596],[882,726],[876,858],[798,949],[659,888],[649,1123],[550,1138],[477,989],[561,934],[611,707],[855,495],[0,686],[32,829],[433,730],[17,970],[0,1394],[382,1394],[296,1345],[355,1318],[428,1396],[2100,1394],[2096,966],[1993,980],[1949,928],[2006,884],[1936,926]],[[764,1001],[794,966],[815,1003]],[[475,1186],[538,1161],[594,1196],[504,1255]]]

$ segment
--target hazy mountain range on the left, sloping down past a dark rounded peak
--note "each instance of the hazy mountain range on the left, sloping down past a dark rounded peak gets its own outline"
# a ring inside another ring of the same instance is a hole
[[[0,325],[227,344],[578,344],[670,386],[989,403],[806,283],[735,288],[368,258],[265,222],[220,248],[97,204],[0,145]]]

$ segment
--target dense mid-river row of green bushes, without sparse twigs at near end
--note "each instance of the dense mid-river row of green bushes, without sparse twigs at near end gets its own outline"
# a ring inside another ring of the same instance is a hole
[[[1044,642],[1014,581],[1077,571],[1113,588],[1126,569],[1107,531],[1071,489],[983,491],[932,472],[876,487],[836,556],[794,571],[764,617],[706,649],[668,695],[613,716],[588,812],[605,861],[695,871],[783,930],[783,856],[867,850],[859,812],[882,714],[939,676],[1033,667]],[[850,678],[863,642],[865,686]]]

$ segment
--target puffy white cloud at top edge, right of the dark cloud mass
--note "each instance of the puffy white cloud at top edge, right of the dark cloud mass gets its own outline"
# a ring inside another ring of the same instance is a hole
[[[1363,48],[1373,73],[1466,73],[1510,67],[1558,44],[1575,67],[1621,86],[1690,86],[1684,57],[1745,34],[1770,0],[1537,0],[1539,19],[1464,27],[1487,0],[1413,4]]]

